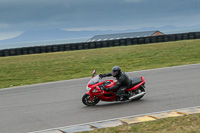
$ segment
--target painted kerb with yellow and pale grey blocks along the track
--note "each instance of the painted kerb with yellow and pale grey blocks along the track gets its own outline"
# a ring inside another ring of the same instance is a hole
[[[158,119],[168,118],[168,117],[180,117],[190,114],[200,113],[200,106],[189,107],[175,110],[168,110],[162,112],[154,112],[149,114],[128,116],[122,118],[115,118],[104,121],[97,121],[91,123],[84,123],[66,127],[59,127],[54,129],[47,129],[42,131],[30,132],[30,133],[73,133],[73,132],[82,132],[82,131],[92,131],[94,129],[108,128],[108,127],[117,127],[120,125],[126,124],[135,124],[146,121],[154,121]]]

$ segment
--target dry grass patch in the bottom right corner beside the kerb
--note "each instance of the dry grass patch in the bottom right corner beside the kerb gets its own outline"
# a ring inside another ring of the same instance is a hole
[[[81,133],[200,133],[200,114],[95,129],[90,132]]]

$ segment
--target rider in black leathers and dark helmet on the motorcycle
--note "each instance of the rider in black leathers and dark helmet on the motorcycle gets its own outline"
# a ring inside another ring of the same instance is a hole
[[[124,91],[128,88],[130,88],[130,85],[131,85],[131,81],[130,79],[128,78],[128,76],[123,72],[121,71],[120,67],[119,66],[114,66],[112,68],[112,71],[110,73],[107,73],[107,74],[99,74],[99,76],[101,78],[103,77],[107,77],[107,76],[113,76],[117,79],[117,83],[112,86],[111,88],[105,88],[104,90],[105,91],[111,91],[111,90],[115,90],[115,89],[118,89],[117,91],[117,100],[126,100],[128,99],[128,94],[125,94]]]

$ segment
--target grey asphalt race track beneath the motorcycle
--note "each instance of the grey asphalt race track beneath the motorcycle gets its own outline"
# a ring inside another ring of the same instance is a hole
[[[97,70],[97,73],[100,72]],[[200,64],[137,71],[128,75],[145,77],[147,94],[142,100],[100,102],[86,107],[81,98],[90,78],[2,89],[0,133],[27,133],[200,106]]]

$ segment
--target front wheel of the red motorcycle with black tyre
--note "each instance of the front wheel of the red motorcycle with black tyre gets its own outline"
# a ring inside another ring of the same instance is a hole
[[[87,105],[87,106],[94,106],[96,105],[98,102],[100,101],[100,99],[98,99],[97,97],[94,97],[93,100],[91,101],[91,96],[88,94],[83,95],[82,97],[82,102],[83,104]]]

